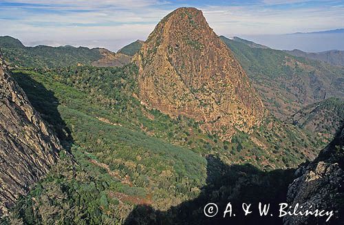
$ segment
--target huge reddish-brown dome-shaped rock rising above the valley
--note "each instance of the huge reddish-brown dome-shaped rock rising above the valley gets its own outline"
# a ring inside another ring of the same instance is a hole
[[[142,104],[200,121],[222,139],[264,115],[246,73],[200,10],[179,8],[164,17],[133,61]]]

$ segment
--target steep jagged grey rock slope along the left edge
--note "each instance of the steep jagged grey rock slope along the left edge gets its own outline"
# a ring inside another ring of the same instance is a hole
[[[0,51],[0,217],[49,171],[60,149],[10,76]]]

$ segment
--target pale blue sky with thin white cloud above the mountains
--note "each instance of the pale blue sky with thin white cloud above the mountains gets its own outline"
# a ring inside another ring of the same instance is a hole
[[[219,35],[286,34],[344,28],[344,1],[0,0],[0,35],[25,45],[119,47],[145,40],[175,8],[204,12]]]

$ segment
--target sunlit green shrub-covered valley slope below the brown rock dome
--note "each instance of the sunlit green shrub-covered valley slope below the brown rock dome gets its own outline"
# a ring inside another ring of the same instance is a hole
[[[32,105],[74,157],[62,155],[61,163],[7,219],[119,223],[138,204],[166,210],[197,197],[206,184],[206,170],[218,173],[207,167],[209,154],[226,164],[270,170],[314,158],[322,145],[312,133],[274,118],[266,118],[250,136],[239,132],[232,142],[222,142],[193,120],[140,105],[136,69],[14,70]]]

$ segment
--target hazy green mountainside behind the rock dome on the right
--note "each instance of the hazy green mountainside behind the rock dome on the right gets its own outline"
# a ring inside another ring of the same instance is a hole
[[[344,97],[344,67],[220,38],[244,67],[264,105],[278,118],[289,118],[301,107],[330,96]]]

